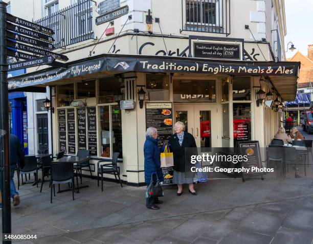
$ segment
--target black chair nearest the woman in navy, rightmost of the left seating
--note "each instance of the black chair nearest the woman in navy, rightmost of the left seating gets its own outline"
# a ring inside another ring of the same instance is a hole
[[[120,178],[120,167],[117,166],[117,160],[118,160],[119,154],[120,154],[119,152],[115,152],[113,154],[111,164],[101,164],[101,163],[107,163],[107,161],[105,160],[98,161],[98,164],[97,164],[98,187],[99,187],[99,174],[100,174],[101,175],[101,191],[103,191],[103,174],[114,174],[116,181],[117,181],[116,176],[118,176],[121,187],[123,187],[122,181]]]

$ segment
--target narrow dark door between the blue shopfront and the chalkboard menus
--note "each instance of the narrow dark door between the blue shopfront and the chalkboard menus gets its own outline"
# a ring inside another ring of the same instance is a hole
[[[38,152],[49,149],[48,139],[48,115],[37,115]]]

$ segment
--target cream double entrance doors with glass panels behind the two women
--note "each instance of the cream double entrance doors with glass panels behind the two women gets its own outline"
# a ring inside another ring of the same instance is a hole
[[[217,105],[174,104],[174,123],[181,121],[193,135],[197,147],[218,147]]]

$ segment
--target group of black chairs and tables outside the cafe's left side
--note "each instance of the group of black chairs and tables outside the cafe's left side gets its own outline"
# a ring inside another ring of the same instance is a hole
[[[119,153],[114,153],[111,163],[107,160],[98,162],[98,187],[99,178],[101,178],[102,191],[103,174],[114,174],[115,179],[117,180],[118,178],[118,183],[121,185],[121,187],[123,187],[120,178],[120,168],[117,166],[118,156]],[[38,191],[41,193],[44,191],[44,186],[48,185],[49,183],[51,196],[50,203],[52,203],[52,198],[53,196],[56,196],[56,193],[62,193],[66,191],[72,192],[72,199],[74,200],[75,194],[80,193],[79,189],[89,187],[88,185],[82,185],[82,170],[86,168],[90,172],[91,179],[93,179],[92,170],[90,167],[89,150],[78,150],[76,156],[65,155],[64,151],[56,153],[55,157],[53,157],[53,155],[48,152],[26,155],[25,167],[23,169],[17,169],[18,189],[23,190],[23,187],[26,186],[26,184],[32,184],[32,186],[38,188],[38,183],[40,183],[40,190],[38,189]],[[32,174],[34,175],[33,181],[31,181]],[[29,176],[28,180],[27,175]],[[55,185],[58,186],[57,192],[55,192]],[[66,188],[61,189],[60,185],[65,185]]]

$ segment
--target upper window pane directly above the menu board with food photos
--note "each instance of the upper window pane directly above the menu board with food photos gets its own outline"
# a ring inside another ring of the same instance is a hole
[[[169,76],[146,74],[146,89],[149,101],[169,101]]]

